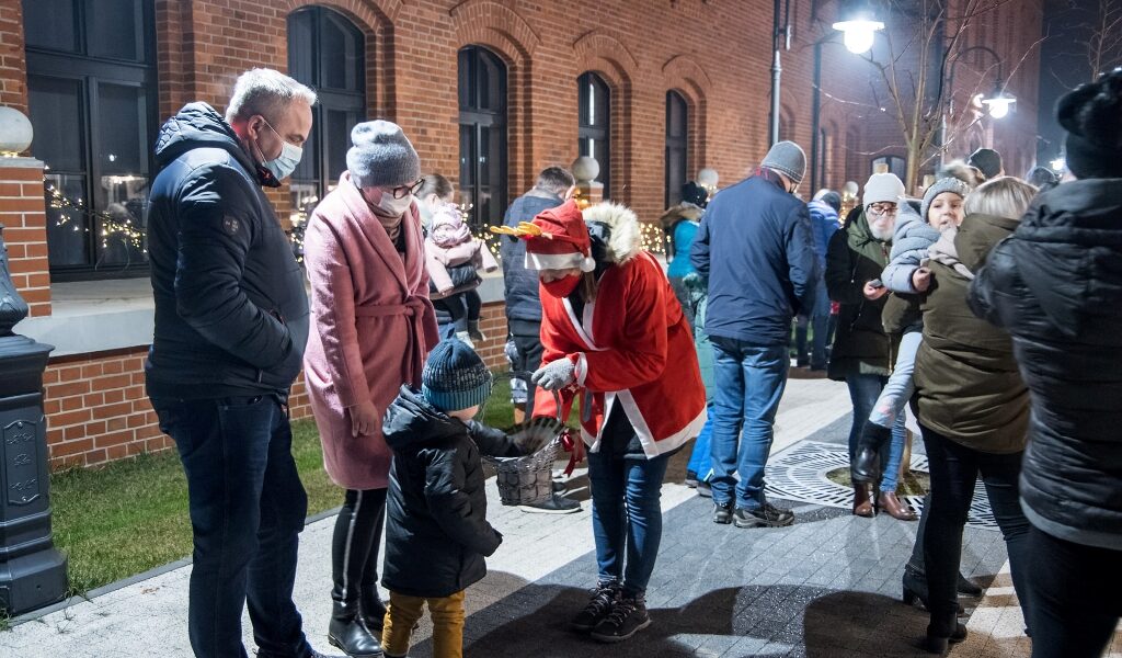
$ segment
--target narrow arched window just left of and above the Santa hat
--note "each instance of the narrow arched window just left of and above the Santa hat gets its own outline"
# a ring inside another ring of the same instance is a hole
[[[460,48],[460,201],[471,225],[499,225],[506,211],[506,64],[480,46]]]

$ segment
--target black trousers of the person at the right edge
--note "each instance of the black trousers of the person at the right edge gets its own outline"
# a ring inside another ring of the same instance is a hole
[[[1033,527],[1027,561],[1032,658],[1102,656],[1122,618],[1122,550],[1073,543]]]

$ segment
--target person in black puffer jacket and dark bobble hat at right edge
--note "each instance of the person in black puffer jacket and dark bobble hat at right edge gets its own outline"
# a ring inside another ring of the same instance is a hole
[[[1032,396],[1021,472],[1033,658],[1100,656],[1122,616],[1122,70],[1057,106],[1078,179],[971,286]]]

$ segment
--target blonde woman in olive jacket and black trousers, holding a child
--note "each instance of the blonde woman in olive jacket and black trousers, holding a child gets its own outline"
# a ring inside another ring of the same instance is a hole
[[[916,355],[916,397],[931,473],[923,560],[928,610],[926,648],[962,641],[956,584],[963,528],[978,473],[1009,549],[1013,587],[1024,605],[1024,539],[1017,478],[1029,424],[1029,393],[1003,330],[974,317],[966,290],[986,254],[1017,228],[1036,188],[1012,177],[983,184],[966,198],[966,218],[928,249],[931,286],[922,298],[923,342]]]

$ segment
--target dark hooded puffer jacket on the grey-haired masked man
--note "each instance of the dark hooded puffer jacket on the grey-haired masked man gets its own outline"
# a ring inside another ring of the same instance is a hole
[[[168,119],[148,212],[153,397],[284,392],[307,341],[307,294],[260,185],[276,184],[205,103]]]

